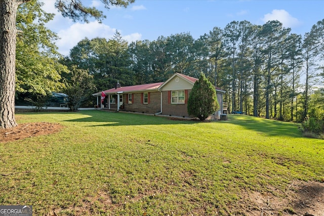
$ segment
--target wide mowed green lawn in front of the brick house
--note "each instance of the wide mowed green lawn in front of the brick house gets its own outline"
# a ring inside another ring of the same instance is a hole
[[[243,191],[285,196],[294,181],[324,179],[324,141],[293,123],[99,110],[16,116],[64,125],[0,143],[0,205],[33,205],[33,215],[226,215],[239,213]]]

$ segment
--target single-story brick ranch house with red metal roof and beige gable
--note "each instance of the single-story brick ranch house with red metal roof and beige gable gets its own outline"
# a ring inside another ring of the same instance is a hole
[[[116,87],[103,91],[106,94],[101,109],[149,113],[156,115],[170,115],[178,117],[192,117],[187,112],[187,101],[190,91],[197,78],[175,73],[165,82]],[[215,87],[220,109],[214,114],[219,119],[223,113],[223,94],[225,91]],[[101,102],[101,93],[93,94],[97,97],[97,106]]]

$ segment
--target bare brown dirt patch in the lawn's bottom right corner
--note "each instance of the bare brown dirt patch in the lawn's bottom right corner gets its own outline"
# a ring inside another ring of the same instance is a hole
[[[260,193],[244,192],[238,206],[247,215],[324,215],[324,184],[294,182],[285,194],[279,191]],[[277,195],[274,195],[277,194]]]

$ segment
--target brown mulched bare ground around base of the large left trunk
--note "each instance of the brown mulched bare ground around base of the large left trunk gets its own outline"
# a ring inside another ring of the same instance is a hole
[[[59,132],[63,126],[58,123],[32,122],[18,124],[9,129],[0,129],[0,142],[10,142]]]

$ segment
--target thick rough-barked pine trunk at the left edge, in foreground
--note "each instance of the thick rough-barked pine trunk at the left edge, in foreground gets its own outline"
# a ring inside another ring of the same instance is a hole
[[[15,120],[16,0],[0,0],[0,128]]]

